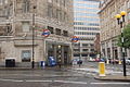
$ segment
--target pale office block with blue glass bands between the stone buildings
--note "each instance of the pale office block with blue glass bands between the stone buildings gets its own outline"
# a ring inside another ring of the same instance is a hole
[[[74,0],[74,58],[94,58],[94,38],[100,33],[99,0]]]

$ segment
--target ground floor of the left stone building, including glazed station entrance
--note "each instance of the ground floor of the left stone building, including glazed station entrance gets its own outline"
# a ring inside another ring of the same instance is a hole
[[[72,42],[51,38],[36,38],[34,42],[34,61],[48,61],[49,57],[62,60],[62,64],[69,64],[72,60]],[[0,64],[4,66],[6,58],[14,58],[16,66],[31,66],[32,40],[30,38],[4,38],[0,41]]]

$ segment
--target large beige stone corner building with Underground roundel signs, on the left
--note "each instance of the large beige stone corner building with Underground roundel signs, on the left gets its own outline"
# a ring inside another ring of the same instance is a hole
[[[29,65],[53,57],[68,64],[73,16],[73,0],[0,0],[0,62],[15,58],[17,66]]]

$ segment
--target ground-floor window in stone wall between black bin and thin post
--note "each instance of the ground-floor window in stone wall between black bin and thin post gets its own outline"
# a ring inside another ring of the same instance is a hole
[[[30,62],[31,51],[30,50],[23,50],[22,51],[22,62]]]

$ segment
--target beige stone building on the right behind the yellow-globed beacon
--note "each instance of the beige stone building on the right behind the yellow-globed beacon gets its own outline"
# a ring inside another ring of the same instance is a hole
[[[126,11],[126,22],[130,23],[130,0],[102,0],[101,11],[101,51],[102,55],[108,59],[122,59],[121,49],[117,46],[117,36],[121,34],[120,25],[117,23],[116,14]],[[126,50],[126,57],[130,57],[130,50]]]

